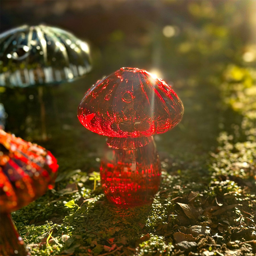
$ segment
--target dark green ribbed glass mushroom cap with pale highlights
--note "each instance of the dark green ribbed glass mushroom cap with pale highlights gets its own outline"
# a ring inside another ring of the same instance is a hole
[[[91,69],[88,44],[63,29],[23,25],[0,38],[1,86],[59,83]]]

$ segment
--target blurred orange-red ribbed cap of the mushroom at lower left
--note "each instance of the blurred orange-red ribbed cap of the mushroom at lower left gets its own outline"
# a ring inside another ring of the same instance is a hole
[[[58,164],[51,152],[0,130],[0,211],[28,205],[52,189]]]

